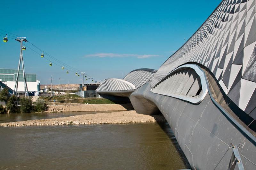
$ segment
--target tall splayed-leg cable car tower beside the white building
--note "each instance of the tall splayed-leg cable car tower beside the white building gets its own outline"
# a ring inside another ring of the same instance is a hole
[[[24,80],[24,92],[25,92],[25,96],[28,96],[28,85],[27,85],[26,76],[25,76],[25,68],[24,68],[24,61],[23,61],[23,54],[22,54],[23,50],[26,49],[23,46],[23,41],[25,41],[25,42],[28,42],[28,41],[26,40],[26,37],[17,37],[17,39],[15,39],[15,40],[20,42],[20,61],[19,61],[18,73],[17,73],[17,77],[16,77],[13,94],[16,94],[16,95],[18,94],[18,82],[19,82],[19,74],[20,74],[20,62],[21,62],[22,71],[23,71],[23,80]]]

